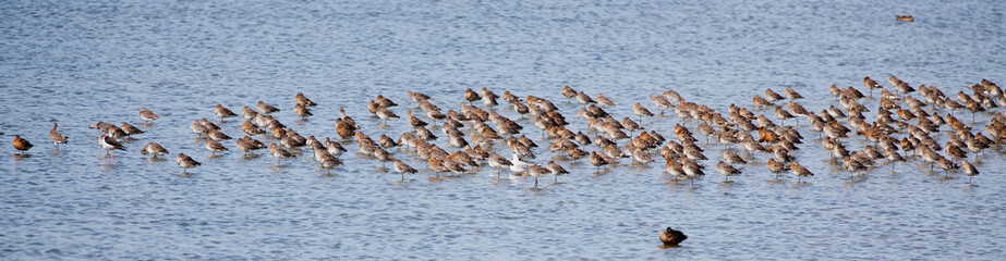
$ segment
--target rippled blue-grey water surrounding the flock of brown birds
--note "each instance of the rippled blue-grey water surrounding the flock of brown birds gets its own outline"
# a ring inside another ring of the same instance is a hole
[[[560,183],[543,177],[540,189],[530,189],[495,178],[490,167],[435,182],[414,154],[391,149],[420,170],[398,182],[393,170],[353,153],[355,144],[347,144],[351,152],[330,177],[305,154],[282,163],[266,152],[244,158],[232,140],[223,142],[230,152],[213,158],[189,122],[214,120],[216,103],[239,111],[263,100],[304,136],[335,138],[344,107],[363,133],[398,137],[411,128],[403,120],[379,125],[367,100],[384,95],[402,104],[392,111],[404,116],[415,107],[405,91],[421,91],[446,112],[459,109],[464,89],[483,87],[553,100],[573,130],[586,124],[573,120],[581,105],[560,95],[565,85],[611,98],[618,105],[608,110],[618,119],[634,117],[635,102],[656,111],[646,97],[668,89],[726,114],[730,103],[754,109],[753,95],[790,86],[808,97],[801,104],[820,111],[837,107],[829,85],[865,92],[868,75],[888,89],[895,75],[953,97],[970,94],[966,86],[982,78],[1006,84],[1004,8],[1002,1],[2,1],[0,259],[1002,260],[999,151],[979,157],[978,186],[959,171],[942,178],[918,159],[893,167],[881,160],[849,182],[802,126],[805,144],[795,153],[815,174],[805,184],[790,174],[771,182],[768,154],[755,154],[734,183],[722,183],[715,164],[724,146],[713,144],[704,145],[707,175],[694,185],[672,183],[657,158],[646,165],[625,159],[602,173],[559,161],[571,174]],[[292,112],[296,92],[319,103],[308,120]],[[877,107],[875,99],[863,103]],[[142,125],[140,108],[161,119]],[[485,109],[520,117],[504,105]],[[992,112],[967,122],[984,126]],[[147,133],[111,161],[97,146],[99,133],[87,128],[98,121]],[[47,142],[53,122],[70,137],[60,150]],[[541,137],[530,121],[518,122]],[[241,137],[240,123],[220,125]],[[668,138],[678,123],[695,126],[675,116],[643,119]],[[949,135],[943,130],[941,144]],[[14,156],[13,135],[36,145],[29,157]],[[849,140],[850,148],[868,144]],[[148,161],[138,151],[149,141],[171,157]],[[544,163],[555,153],[545,149],[550,140],[537,141]],[[505,145],[494,148],[509,156]],[[180,175],[178,152],[203,166]],[[657,233],[667,226],[689,239],[659,248]]]

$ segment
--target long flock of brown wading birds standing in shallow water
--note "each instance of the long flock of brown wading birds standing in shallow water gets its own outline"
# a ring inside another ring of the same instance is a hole
[[[1006,115],[1004,114],[1006,113],[994,111],[996,108],[1006,107],[1006,98],[994,83],[982,79],[980,84],[968,86],[971,94],[959,91],[957,100],[947,97],[936,87],[920,85],[913,88],[894,76],[890,76],[888,83],[889,88],[877,84],[870,77],[863,78],[863,85],[870,90],[871,97],[874,90],[880,89],[880,107],[874,109],[876,116],[873,122],[868,122],[864,116],[864,113],[872,112],[871,109],[860,103],[865,96],[852,86],[838,88],[832,85],[829,91],[837,98],[840,108],[831,105],[822,109],[820,113],[808,111],[798,103],[797,100],[803,97],[789,87],[785,89],[784,95],[772,89],[765,89],[764,97],[755,95],[752,102],[759,108],[756,111],[772,111],[780,124],[776,124],[768,116],[734,104],[730,104],[727,114],[724,115],[706,105],[689,102],[674,90],[650,95],[650,100],[652,104],[660,109],[660,114],[665,110],[672,109],[674,115],[686,121],[698,122],[694,129],[706,136],[706,144],[710,142],[708,139],[712,139],[728,146],[723,150],[722,160],[715,164],[716,171],[725,176],[725,182],[728,182],[729,176],[740,174],[741,171],[735,165],[748,164],[754,153],[771,154],[766,167],[775,173],[776,178],[785,172],[796,175],[797,183],[802,183],[803,177],[812,176],[813,173],[801,165],[792,154],[792,151],[799,149],[798,146],[803,142],[803,136],[797,128],[792,125],[785,125],[786,120],[793,117],[805,117],[807,129],[819,133],[819,137],[821,134],[824,135],[820,138],[823,148],[831,153],[835,165],[840,165],[849,172],[850,181],[857,178],[857,175],[860,177],[865,175],[863,171],[877,166],[878,160],[886,159],[887,164],[894,164],[898,161],[921,159],[930,164],[931,171],[938,165],[945,171],[945,176],[952,172],[963,172],[969,176],[968,183],[971,184],[970,176],[978,175],[979,171],[972,162],[968,161],[968,153],[980,153],[986,149],[998,150],[999,145],[1006,141],[1006,132],[1004,132],[1006,127]],[[327,169],[326,173],[330,175],[330,169],[342,164],[339,157],[347,151],[343,144],[355,142],[360,152],[357,156],[380,162],[392,162],[395,170],[402,175],[402,179],[405,174],[416,173],[416,170],[402,161],[400,157],[411,157],[409,154],[414,153],[414,157],[424,161],[426,167],[436,173],[437,177],[440,173],[450,173],[450,175],[470,173],[473,170],[477,171],[478,166],[488,164],[495,169],[497,176],[500,169],[510,169],[514,173],[513,176],[522,178],[522,183],[523,178],[533,177],[535,186],[537,186],[538,177],[568,173],[556,161],[579,161],[583,158],[599,169],[620,164],[619,160],[625,158],[631,158],[634,164],[645,166],[654,161],[653,156],[659,156],[665,161],[666,173],[675,177],[675,183],[679,178],[688,178],[692,179],[692,184],[695,177],[705,174],[703,170],[706,165],[712,165],[712,163],[702,163],[708,158],[703,153],[704,149],[696,145],[699,139],[686,126],[680,124],[674,126],[672,137],[677,141],[665,139],[656,130],[645,132],[645,128],[631,117],[626,116],[618,121],[604,109],[615,107],[616,103],[601,94],[591,98],[583,91],[575,91],[569,86],[563,87],[561,94],[568,98],[566,102],[572,103],[574,99],[583,104],[575,114],[575,117],[585,120],[586,128],[583,132],[571,130],[570,123],[555,103],[534,96],[521,99],[509,91],[505,91],[502,97],[499,97],[486,88],[482,88],[481,92],[468,89],[464,91],[464,100],[460,102],[458,111],[448,110],[447,113],[443,113],[428,96],[408,91],[408,97],[425,112],[426,120],[414,115],[413,109],[407,109],[403,121],[414,130],[403,133],[397,139],[381,134],[375,141],[364,134],[361,126],[347,115],[342,108],[339,108],[341,116],[335,122],[336,134],[341,140],[332,141],[325,137],[325,140],[320,141],[314,136],[305,138],[269,115],[279,109],[258,101],[257,111],[249,107],[241,109],[240,116],[246,120],[241,124],[241,129],[246,135],[235,139],[233,148],[244,152],[245,156],[256,150],[268,149],[270,154],[281,160],[294,158],[301,151],[300,148],[307,147],[314,152],[314,160],[322,167]],[[497,99],[499,98],[509,102],[511,105],[508,108],[519,113],[521,120],[528,117],[530,122],[533,122],[534,126],[542,130],[543,140],[552,140],[548,151],[556,152],[553,160],[545,164],[533,162],[537,157],[532,148],[538,145],[521,133],[524,126],[492,109],[498,105]],[[486,109],[472,105],[473,102],[480,100]],[[789,101],[785,102],[785,100]],[[310,108],[316,105],[315,102],[303,94],[298,94],[294,101],[296,105],[293,111],[299,116],[312,115]],[[783,102],[785,104],[780,104]],[[396,105],[398,105],[396,102],[378,95],[367,103],[367,109],[374,117],[387,124],[387,121],[400,119],[391,110]],[[995,115],[985,123],[983,129],[972,129],[953,114],[961,109],[972,113],[972,122],[973,113],[991,110],[991,113]],[[945,114],[941,115],[941,111]],[[639,102],[633,104],[632,112],[639,116],[640,122],[644,116],[654,116],[654,113]],[[214,113],[221,120],[221,123],[225,123],[225,119],[239,116],[220,104],[214,108]],[[158,119],[157,114],[146,109],[140,109],[140,116],[146,122]],[[431,125],[428,121],[434,124]],[[493,123],[495,127],[486,122]],[[443,123],[439,130],[449,140],[447,146],[454,150],[452,153],[434,144],[438,137],[429,128],[435,128],[439,123]],[[114,150],[124,150],[120,139],[143,133],[128,123],[122,123],[120,127],[99,122],[90,127],[101,132],[97,142],[108,151],[110,158],[113,157]],[[205,139],[205,147],[211,153],[229,150],[220,142],[231,137],[222,133],[217,124],[202,119],[192,121],[190,128]],[[462,130],[462,128],[466,129]],[[984,132],[987,132],[987,136]],[[753,136],[752,133],[756,133],[757,136]],[[944,133],[948,136],[947,141],[941,145],[936,138]],[[593,137],[587,134],[593,134]],[[269,140],[270,145],[267,147],[254,137]],[[853,138],[865,138],[869,142],[859,150],[850,151],[846,142]],[[58,149],[59,144],[65,144],[68,139],[57,130],[57,125],[53,123],[49,140]],[[498,140],[502,140],[499,142],[506,144],[509,148],[511,154],[509,159],[497,154],[493,149],[494,142]],[[621,142],[622,140],[627,141]],[[744,157],[735,151],[732,147],[735,144],[747,151]],[[32,144],[20,136],[14,137],[13,145],[22,153],[32,148]],[[392,154],[388,151],[399,146],[408,147],[403,149],[405,153]],[[944,153],[941,154],[941,151]],[[151,154],[154,158],[169,153],[157,142],[147,144],[140,152]],[[199,162],[184,153],[178,153],[175,162],[184,169],[183,173],[187,173],[187,169],[201,165]]]

